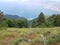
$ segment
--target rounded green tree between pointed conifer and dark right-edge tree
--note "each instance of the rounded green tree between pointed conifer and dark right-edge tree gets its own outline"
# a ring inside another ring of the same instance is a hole
[[[52,16],[49,16],[47,18],[46,26],[53,27],[55,25],[56,25],[56,14],[53,14]]]

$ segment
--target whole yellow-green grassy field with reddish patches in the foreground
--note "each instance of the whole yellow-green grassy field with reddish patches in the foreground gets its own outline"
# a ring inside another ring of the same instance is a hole
[[[60,27],[0,30],[0,45],[44,45],[44,41],[47,45],[60,45]]]

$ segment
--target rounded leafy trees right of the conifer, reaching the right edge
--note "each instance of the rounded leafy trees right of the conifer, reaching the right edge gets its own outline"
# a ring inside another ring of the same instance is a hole
[[[60,15],[59,14],[53,14],[52,16],[49,16],[48,26],[60,26]]]

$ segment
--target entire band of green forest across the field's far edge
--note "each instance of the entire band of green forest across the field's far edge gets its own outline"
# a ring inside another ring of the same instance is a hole
[[[9,15],[10,16],[10,15]],[[13,16],[14,17],[14,16]],[[0,11],[0,28],[2,27],[16,27],[16,28],[28,28],[28,27],[58,27],[60,26],[60,14],[53,14],[51,16],[45,16],[41,12],[37,18],[28,20],[26,18],[7,18],[5,14]]]

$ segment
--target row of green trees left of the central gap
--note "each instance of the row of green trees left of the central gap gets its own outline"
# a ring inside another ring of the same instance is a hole
[[[9,19],[4,18],[4,13],[0,11],[0,28],[3,27],[15,27],[15,28],[27,28],[27,19]]]

